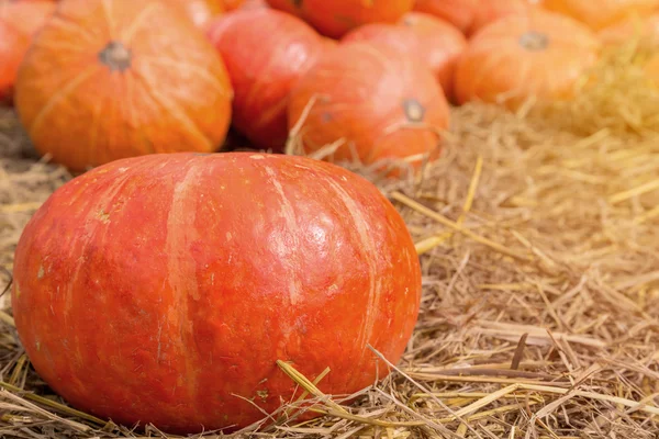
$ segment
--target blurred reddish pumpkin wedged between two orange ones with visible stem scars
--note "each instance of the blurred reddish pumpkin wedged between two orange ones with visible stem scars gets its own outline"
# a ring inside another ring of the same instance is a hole
[[[289,90],[323,52],[321,36],[302,20],[273,9],[228,13],[210,25],[208,36],[235,91],[234,126],[255,146],[282,150]]]

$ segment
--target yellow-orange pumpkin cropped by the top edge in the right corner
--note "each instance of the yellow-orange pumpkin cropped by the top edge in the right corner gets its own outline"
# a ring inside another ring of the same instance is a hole
[[[650,13],[659,7],[659,0],[543,0],[541,5],[600,31],[629,15]]]

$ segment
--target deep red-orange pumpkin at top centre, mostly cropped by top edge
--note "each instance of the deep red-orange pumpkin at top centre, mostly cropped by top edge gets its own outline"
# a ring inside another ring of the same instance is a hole
[[[304,0],[302,16],[325,36],[340,38],[367,23],[395,23],[410,12],[414,0]]]

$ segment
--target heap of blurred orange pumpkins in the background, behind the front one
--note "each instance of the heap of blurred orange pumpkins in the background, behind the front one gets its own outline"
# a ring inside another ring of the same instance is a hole
[[[53,15],[56,4],[59,10]],[[0,98],[72,170],[213,151],[438,155],[449,103],[569,97],[656,0],[0,0]],[[658,33],[659,20],[647,19]],[[657,64],[657,63],[655,63]],[[15,83],[14,83],[15,82]],[[15,89],[15,92],[14,92]],[[15,94],[14,94],[15,93]]]

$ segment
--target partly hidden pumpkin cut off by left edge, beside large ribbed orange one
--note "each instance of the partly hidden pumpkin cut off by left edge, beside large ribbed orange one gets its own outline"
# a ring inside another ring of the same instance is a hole
[[[12,100],[19,66],[33,36],[54,11],[49,1],[0,0],[0,102]]]

